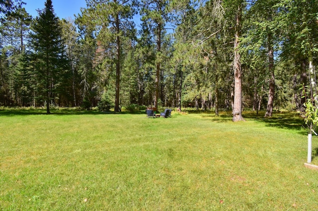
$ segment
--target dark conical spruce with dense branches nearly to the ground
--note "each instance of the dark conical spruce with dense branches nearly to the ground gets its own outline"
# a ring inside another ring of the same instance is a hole
[[[32,25],[31,42],[36,60],[35,71],[39,87],[42,91],[42,100],[46,101],[47,113],[50,113],[50,104],[54,100],[60,74],[67,63],[64,55],[62,29],[59,18],[54,13],[52,0],[46,0],[45,8],[38,11]]]

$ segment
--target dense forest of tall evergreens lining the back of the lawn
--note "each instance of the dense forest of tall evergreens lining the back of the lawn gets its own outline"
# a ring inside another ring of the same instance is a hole
[[[0,106],[302,110],[318,0],[0,0]],[[314,86],[316,87],[316,86]]]

